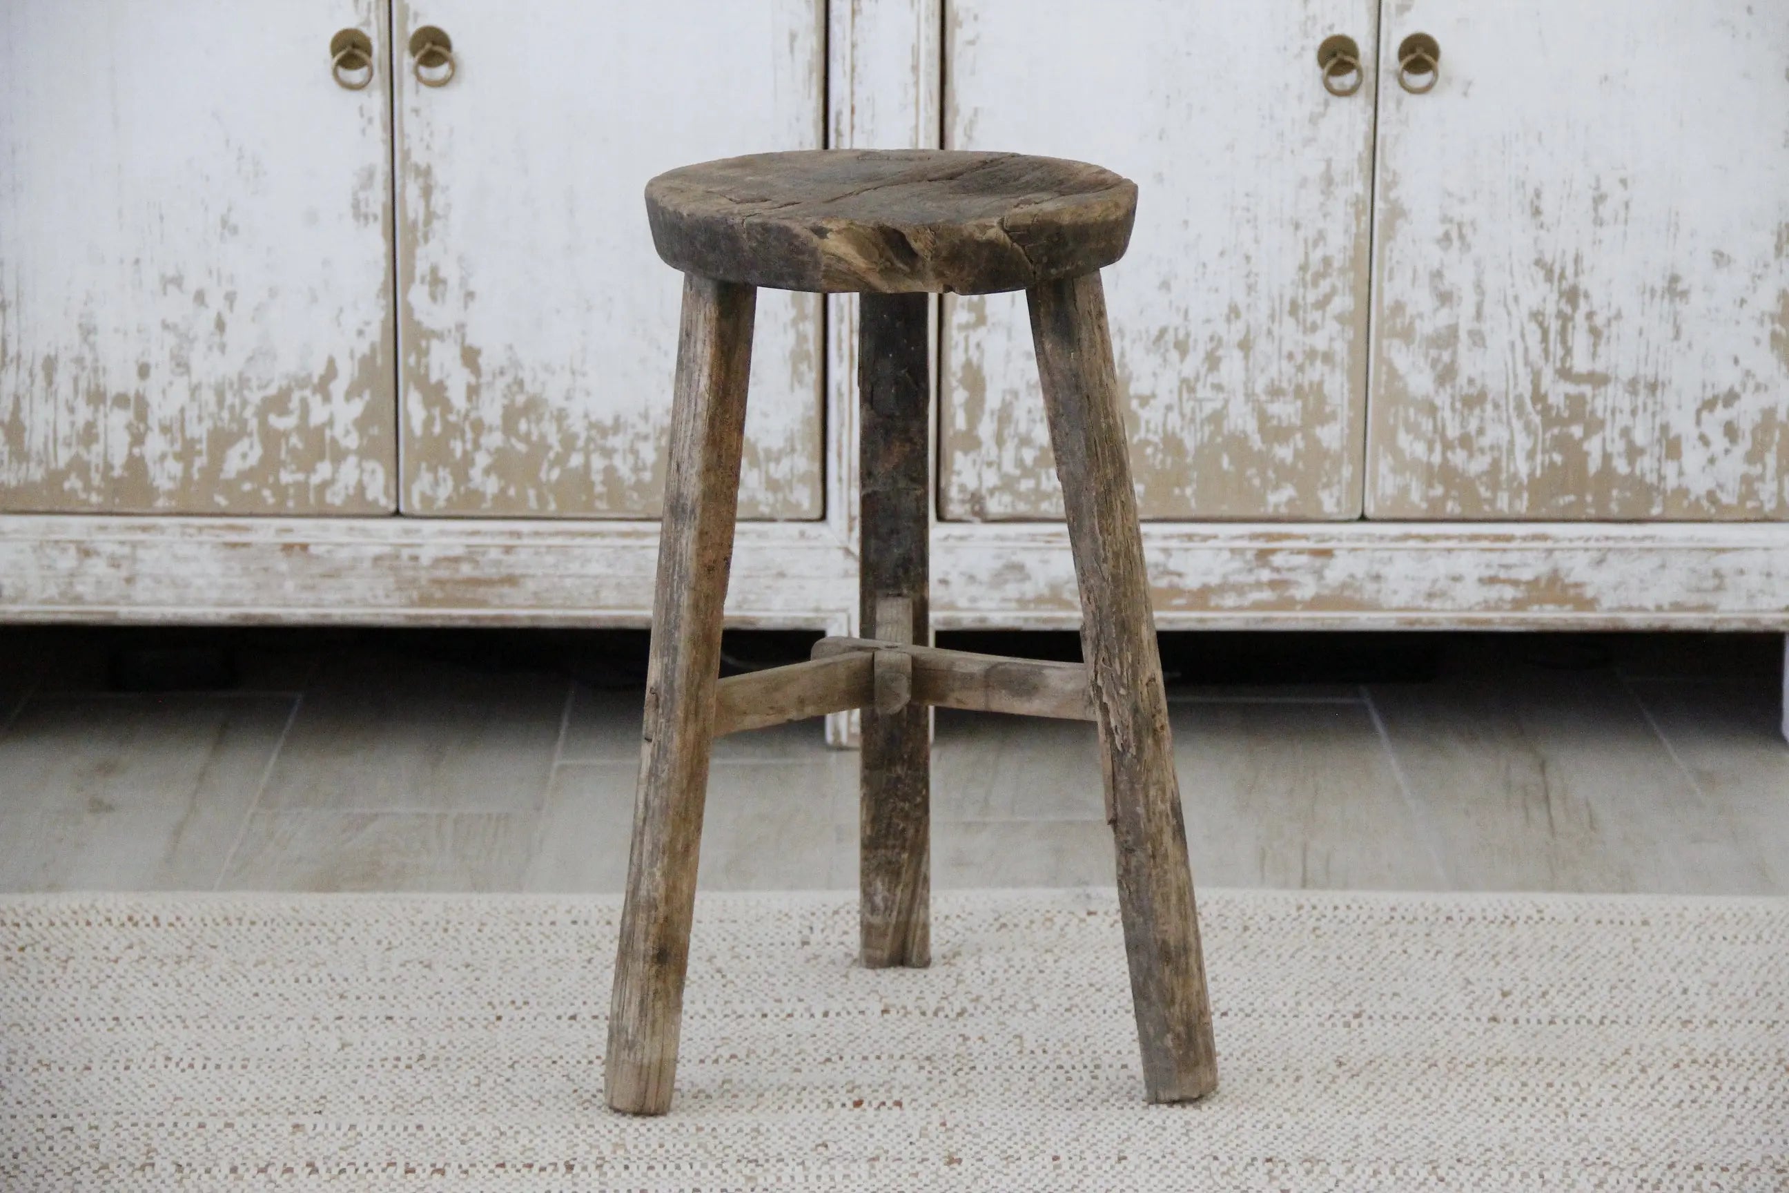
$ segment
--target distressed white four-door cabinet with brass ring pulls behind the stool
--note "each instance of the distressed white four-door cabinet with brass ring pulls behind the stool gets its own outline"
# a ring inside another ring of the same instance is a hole
[[[1159,626],[1789,630],[1782,0],[394,2],[0,4],[0,617],[646,624],[646,179],[945,143],[1141,186]],[[1075,626],[1022,302],[939,317],[934,624]],[[853,320],[760,299],[732,624],[857,628]]]

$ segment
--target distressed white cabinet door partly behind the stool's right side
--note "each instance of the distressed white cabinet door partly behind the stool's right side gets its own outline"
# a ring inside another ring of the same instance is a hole
[[[1150,519],[1360,513],[1376,0],[948,0],[952,148],[1079,157],[1140,188],[1106,270]],[[946,519],[1061,517],[1023,295],[948,297]]]

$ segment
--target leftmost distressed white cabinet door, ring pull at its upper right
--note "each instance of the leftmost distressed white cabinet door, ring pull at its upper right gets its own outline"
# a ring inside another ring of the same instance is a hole
[[[386,30],[376,0],[0,5],[0,508],[394,508]]]

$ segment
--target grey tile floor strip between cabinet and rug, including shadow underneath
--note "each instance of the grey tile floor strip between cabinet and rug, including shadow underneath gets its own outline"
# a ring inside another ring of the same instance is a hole
[[[218,644],[234,676],[177,681]],[[1780,639],[1422,649],[1420,681],[1172,685],[1200,884],[1789,893]],[[619,889],[630,674],[576,635],[0,628],[0,891]],[[855,885],[855,835],[819,723],[717,746],[705,887]],[[932,851],[941,887],[1111,884],[1091,726],[937,714]]]

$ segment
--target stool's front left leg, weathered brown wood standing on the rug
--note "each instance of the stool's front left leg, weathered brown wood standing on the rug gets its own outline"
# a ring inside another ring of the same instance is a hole
[[[640,783],[608,1011],[608,1104],[630,1114],[671,1109],[676,1077],[755,306],[751,286],[683,281]]]

